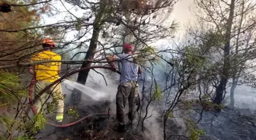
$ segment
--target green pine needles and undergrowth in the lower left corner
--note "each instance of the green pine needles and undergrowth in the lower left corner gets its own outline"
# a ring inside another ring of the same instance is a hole
[[[0,116],[3,126],[0,139],[30,140],[46,124],[43,114],[28,117],[26,110],[29,106],[23,100],[27,98],[27,88],[20,81],[18,75],[0,71],[0,106],[15,108],[11,113],[7,109],[2,110],[6,115]],[[18,131],[18,135],[14,131]]]

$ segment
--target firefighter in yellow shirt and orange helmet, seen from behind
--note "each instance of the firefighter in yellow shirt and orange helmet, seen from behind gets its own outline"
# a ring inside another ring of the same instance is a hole
[[[53,48],[56,47],[52,39],[43,39],[43,51],[34,54],[30,59],[30,63],[35,61],[61,61],[61,56],[53,52]],[[46,62],[42,64],[36,64],[30,67],[30,73],[35,76],[35,94],[38,94],[41,90],[45,89],[52,82],[59,79],[59,73],[61,71],[61,62]],[[46,104],[47,96],[53,97],[53,102],[56,104],[56,121],[61,123],[64,117],[64,97],[62,95],[62,89],[60,84],[56,84],[43,93],[40,98],[35,102],[34,107],[37,109],[37,114],[42,111],[43,104]],[[43,111],[42,111],[43,112]]]

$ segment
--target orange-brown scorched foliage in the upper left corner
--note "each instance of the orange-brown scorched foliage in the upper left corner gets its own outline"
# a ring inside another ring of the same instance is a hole
[[[16,0],[8,1],[11,4],[23,5],[24,2]],[[30,6],[15,6],[9,13],[2,13],[0,17],[1,54],[0,64],[15,64],[18,61],[27,61],[27,55],[34,51],[36,32],[23,30],[35,26],[39,22],[39,14],[36,8]],[[13,32],[11,30],[14,30]],[[10,31],[10,32],[8,32]]]

